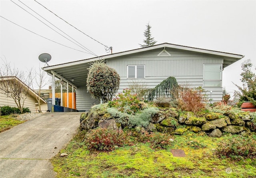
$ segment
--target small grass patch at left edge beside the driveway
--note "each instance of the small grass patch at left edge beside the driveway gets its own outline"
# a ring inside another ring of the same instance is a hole
[[[0,132],[9,130],[10,128],[23,122],[25,121],[17,120],[16,115],[0,116]]]

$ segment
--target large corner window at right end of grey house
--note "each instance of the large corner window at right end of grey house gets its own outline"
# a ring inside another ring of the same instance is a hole
[[[204,64],[204,87],[220,87],[222,79],[222,64]]]

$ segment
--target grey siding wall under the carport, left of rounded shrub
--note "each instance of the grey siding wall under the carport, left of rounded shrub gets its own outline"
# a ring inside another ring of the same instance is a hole
[[[90,108],[99,104],[99,100],[92,98],[90,93],[87,93],[86,86],[78,87],[76,90],[76,109],[88,111]]]

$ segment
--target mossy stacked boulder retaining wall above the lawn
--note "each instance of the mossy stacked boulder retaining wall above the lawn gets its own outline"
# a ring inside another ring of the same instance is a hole
[[[117,118],[106,111],[93,108],[88,113],[81,114],[80,129],[90,130],[97,127],[122,129],[122,125],[116,120]],[[220,137],[223,133],[240,134],[256,130],[252,118],[247,112],[239,114],[210,112],[198,116],[192,112],[178,113],[175,108],[159,110],[152,116],[148,126],[144,129],[148,132],[159,131],[180,135],[189,130],[212,137]]]

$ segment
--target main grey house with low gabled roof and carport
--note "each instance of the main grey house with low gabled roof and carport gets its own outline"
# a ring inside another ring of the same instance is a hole
[[[163,43],[96,58],[78,60],[44,67],[43,70],[76,88],[76,109],[89,110],[99,101],[92,99],[86,89],[90,63],[104,59],[120,75],[120,89],[130,82],[144,82],[154,88],[162,80],[173,76],[178,84],[191,88],[201,86],[212,102],[222,100],[222,70],[244,56],[188,46]]]

